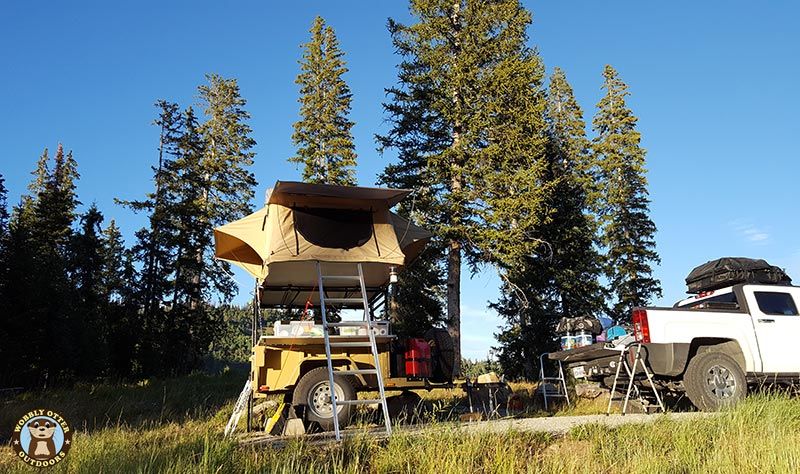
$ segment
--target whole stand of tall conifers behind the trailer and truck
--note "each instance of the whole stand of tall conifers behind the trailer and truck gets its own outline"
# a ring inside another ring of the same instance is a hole
[[[371,149],[353,137],[347,78],[359,71],[336,25],[317,17],[297,49],[297,114],[278,117],[293,125],[291,156],[255,153],[251,114],[269,110],[251,110],[236,77],[209,72],[186,85],[193,103],[153,98],[141,127],[158,139],[139,163],[151,179],[114,209],[101,212],[81,188],[68,142],[4,160],[31,173],[10,193],[0,169],[0,387],[246,361],[252,308],[233,301],[252,288],[214,258],[213,230],[261,206],[272,183],[255,170],[270,160],[296,166],[282,180],[413,190],[396,211],[435,238],[399,275],[396,331],[447,328],[458,349],[461,282],[490,269],[501,282],[490,306],[504,323],[487,331],[508,378],[536,377],[563,316],[619,321],[659,297],[646,150],[625,78],[606,65],[596,102],[579,103],[567,71],[544,64],[519,0],[409,9],[412,21],[387,24],[396,80],[384,85],[387,126]],[[355,170],[372,160],[382,171],[358,183]],[[115,209],[145,225],[123,235]]]

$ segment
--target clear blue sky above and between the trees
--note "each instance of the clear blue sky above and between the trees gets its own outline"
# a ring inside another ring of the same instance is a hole
[[[566,71],[587,121],[604,64],[630,85],[659,229],[655,274],[664,298],[657,303],[681,298],[688,271],[719,256],[767,258],[800,279],[797,4],[526,5],[534,13],[531,45],[548,72]],[[374,184],[392,158],[379,156],[373,140],[386,127],[381,102],[398,62],[385,25],[388,17],[409,21],[403,1],[8,2],[0,10],[0,173],[10,201],[24,192],[42,149],[63,142],[80,166],[81,200],[115,218],[130,243],[144,219],[113,199],[138,198],[152,186],[153,102],[193,104],[203,75],[216,72],[237,78],[248,100],[260,203],[275,180],[299,177],[286,162],[298,110],[294,78],[318,14],[346,52],[359,182]],[[497,285],[490,270],[464,283],[469,357],[493,344],[498,320],[486,302]]]

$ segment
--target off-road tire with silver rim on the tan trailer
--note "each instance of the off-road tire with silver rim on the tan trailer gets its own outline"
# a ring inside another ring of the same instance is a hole
[[[356,391],[346,377],[333,376],[336,400],[355,400]],[[333,405],[327,367],[317,367],[306,373],[294,388],[292,405],[301,406],[308,421],[315,421],[324,431],[333,430]],[[351,405],[336,407],[339,428],[350,424]]]

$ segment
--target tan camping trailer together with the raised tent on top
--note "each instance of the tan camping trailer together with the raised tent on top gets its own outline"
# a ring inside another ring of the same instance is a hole
[[[282,394],[306,426],[339,439],[352,407],[366,403],[381,408],[390,433],[387,391],[470,387],[453,380],[446,330],[419,328],[405,339],[391,331],[397,274],[433,236],[391,212],[408,194],[278,181],[264,208],[215,229],[217,258],[256,280],[248,406]],[[262,309],[296,320],[268,334]]]

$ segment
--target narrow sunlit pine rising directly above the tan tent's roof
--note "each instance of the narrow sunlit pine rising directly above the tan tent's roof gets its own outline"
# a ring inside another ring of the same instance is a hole
[[[344,53],[333,28],[314,19],[311,41],[300,61],[300,120],[292,141],[297,155],[289,161],[303,165],[303,181],[355,185],[356,153],[348,115],[352,94],[342,76]]]

